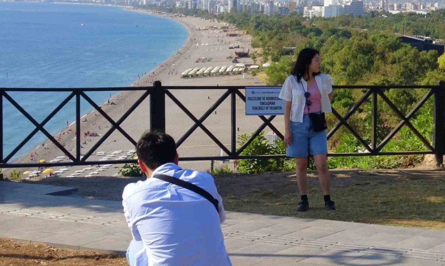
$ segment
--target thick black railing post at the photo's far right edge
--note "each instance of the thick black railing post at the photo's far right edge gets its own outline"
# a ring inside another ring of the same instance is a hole
[[[438,82],[439,88],[434,89],[433,107],[433,146],[436,154],[436,166],[444,163],[445,143],[445,81]]]

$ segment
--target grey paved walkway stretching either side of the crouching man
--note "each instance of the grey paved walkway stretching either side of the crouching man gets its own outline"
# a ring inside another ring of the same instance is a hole
[[[0,237],[125,254],[121,203],[54,196],[73,189],[0,181]],[[222,226],[234,266],[445,266],[441,230],[236,212]]]

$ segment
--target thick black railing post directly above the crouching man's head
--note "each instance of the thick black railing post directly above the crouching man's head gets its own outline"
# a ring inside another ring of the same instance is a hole
[[[165,132],[165,92],[160,81],[153,83],[150,95],[150,130]]]

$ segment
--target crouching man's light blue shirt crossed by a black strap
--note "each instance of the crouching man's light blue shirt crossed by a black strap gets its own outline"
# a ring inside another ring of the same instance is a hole
[[[231,266],[224,247],[221,222],[223,200],[213,177],[168,163],[153,176],[164,174],[191,182],[219,201],[220,213],[204,197],[157,178],[130,183],[124,188],[125,218],[144,249],[136,254],[137,266]]]

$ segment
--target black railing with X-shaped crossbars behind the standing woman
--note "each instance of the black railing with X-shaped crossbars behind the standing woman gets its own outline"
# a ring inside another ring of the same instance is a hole
[[[204,131],[222,150],[226,153],[225,156],[200,156],[200,157],[181,157],[181,161],[201,161],[201,160],[229,160],[229,159],[258,159],[258,158],[284,158],[285,155],[241,155],[246,147],[258,136],[266,127],[269,127],[276,135],[283,139],[283,134],[271,123],[276,116],[258,116],[263,124],[251,135],[249,140],[241,147],[236,147],[236,96],[244,102],[246,98],[241,92],[245,86],[206,86],[206,87],[174,87],[162,86],[161,82],[157,81],[153,87],[131,87],[131,88],[85,88],[85,89],[22,89],[22,88],[0,88],[0,168],[15,168],[15,167],[49,167],[49,166],[76,166],[76,165],[93,165],[93,164],[123,164],[134,163],[135,160],[107,160],[107,161],[89,161],[89,157],[97,150],[97,148],[113,133],[118,130],[122,133],[132,144],[136,141],[120,126],[125,119],[138,107],[144,99],[150,97],[150,129],[165,131],[166,129],[166,96],[169,97],[193,122],[184,135],[178,141],[179,147],[196,129],[200,128]],[[195,117],[180,100],[172,93],[173,90],[183,89],[217,89],[224,90],[222,96],[199,118]],[[365,147],[366,152],[361,153],[330,153],[329,156],[376,156],[376,155],[413,155],[413,154],[435,154],[436,164],[443,164],[444,144],[445,144],[445,82],[439,82],[437,86],[334,86],[334,89],[363,89],[364,95],[353,105],[353,107],[345,114],[340,115],[333,109],[333,115],[338,119],[338,123],[329,131],[328,139],[337,132],[341,127],[346,127],[356,139]],[[384,91],[388,89],[428,89],[428,92],[422,99],[404,115],[398,107],[385,95]],[[141,91],[142,95],[127,109],[125,114],[117,121],[114,121],[106,112],[104,112],[94,101],[85,93],[87,91]],[[26,92],[26,91],[68,91],[71,92],[41,123],[38,123],[29,113],[27,113],[9,94],[10,91]],[[378,143],[377,140],[377,97],[381,99],[394,111],[401,122],[393,128],[393,130],[386,135],[386,137]],[[433,110],[433,142],[430,143],[419,131],[412,125],[410,120],[414,114],[425,104],[431,97],[434,97]],[[19,112],[21,112],[33,125],[36,127],[20,144],[15,147],[12,152],[4,157],[3,154],[3,97],[9,101]],[[371,128],[371,143],[368,144],[362,136],[360,136],[353,127],[348,123],[348,119],[358,110],[358,108],[365,103],[369,97],[372,102],[372,128]],[[73,156],[67,151],[50,133],[48,133],[44,126],[45,124],[60,111],[71,99],[76,101],[76,154]],[[80,134],[80,101],[85,99],[91,106],[99,112],[110,124],[111,128],[101,136],[101,138],[93,145],[84,155],[81,154],[81,134]],[[204,126],[204,121],[220,106],[224,100],[230,98],[230,148],[227,148],[211,131]],[[399,132],[403,126],[407,126],[425,145],[427,150],[424,151],[391,151],[382,152],[382,148]],[[42,132],[45,136],[53,142],[68,158],[70,162],[59,163],[9,163],[9,160],[38,132]]]

